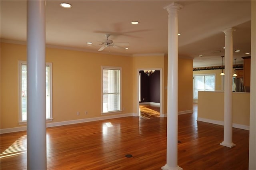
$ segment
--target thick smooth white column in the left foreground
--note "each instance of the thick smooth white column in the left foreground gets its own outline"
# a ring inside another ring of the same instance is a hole
[[[27,169],[46,170],[45,1],[27,1]]]

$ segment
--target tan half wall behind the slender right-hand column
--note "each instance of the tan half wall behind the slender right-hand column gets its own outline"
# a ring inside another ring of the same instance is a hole
[[[233,93],[233,123],[249,126],[250,93]],[[198,91],[198,117],[224,121],[224,92]]]

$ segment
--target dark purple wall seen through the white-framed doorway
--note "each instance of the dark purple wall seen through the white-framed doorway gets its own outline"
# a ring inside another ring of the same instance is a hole
[[[144,71],[140,71],[140,73],[141,102],[160,103],[160,71],[156,70],[150,76]]]

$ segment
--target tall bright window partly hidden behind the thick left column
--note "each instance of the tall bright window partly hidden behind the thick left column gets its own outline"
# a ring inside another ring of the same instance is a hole
[[[52,120],[52,63],[46,63],[46,119]],[[20,73],[20,117],[19,122],[27,121],[27,63],[19,61]]]

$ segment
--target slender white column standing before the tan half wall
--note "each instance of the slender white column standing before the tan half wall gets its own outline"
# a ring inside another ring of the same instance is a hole
[[[232,70],[233,70],[233,28],[223,31],[225,33],[225,90],[224,90],[224,140],[220,144],[234,147],[232,142]]]

